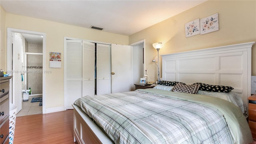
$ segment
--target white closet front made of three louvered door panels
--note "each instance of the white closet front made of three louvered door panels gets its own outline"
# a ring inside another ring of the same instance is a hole
[[[64,107],[82,96],[111,93],[110,45],[66,40],[64,46]]]

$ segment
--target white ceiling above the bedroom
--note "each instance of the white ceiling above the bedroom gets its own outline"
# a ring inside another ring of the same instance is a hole
[[[131,35],[206,0],[0,0],[7,13]]]

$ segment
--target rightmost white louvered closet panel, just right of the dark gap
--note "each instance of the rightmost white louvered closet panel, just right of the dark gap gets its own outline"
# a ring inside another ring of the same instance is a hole
[[[96,58],[96,94],[110,94],[110,45],[97,44]]]

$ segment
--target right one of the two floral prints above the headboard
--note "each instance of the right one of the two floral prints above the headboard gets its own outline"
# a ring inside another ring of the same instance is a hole
[[[200,19],[200,34],[207,34],[219,30],[218,13]]]

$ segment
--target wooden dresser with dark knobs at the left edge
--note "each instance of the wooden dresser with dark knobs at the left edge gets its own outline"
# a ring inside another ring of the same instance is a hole
[[[0,77],[0,144],[9,144],[9,89],[12,76]]]

